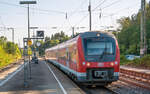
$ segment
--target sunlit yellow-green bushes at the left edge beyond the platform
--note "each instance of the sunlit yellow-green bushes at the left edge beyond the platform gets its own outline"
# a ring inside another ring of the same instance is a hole
[[[7,41],[4,36],[0,37],[0,68],[7,66],[21,58],[21,52],[17,44]]]

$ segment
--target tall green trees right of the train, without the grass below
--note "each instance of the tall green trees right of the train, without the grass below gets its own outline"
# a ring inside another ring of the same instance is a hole
[[[121,31],[115,34],[118,38],[121,54],[140,53],[140,10],[131,17],[123,17],[118,20]],[[150,53],[150,7],[146,5],[146,38],[148,53]]]

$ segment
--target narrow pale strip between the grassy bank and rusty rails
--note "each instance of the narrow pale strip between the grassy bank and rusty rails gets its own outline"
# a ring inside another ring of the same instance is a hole
[[[150,75],[150,70],[148,69],[139,69],[139,68],[133,68],[133,67],[128,67],[128,66],[120,66],[120,69],[125,69],[129,71],[134,71],[134,72]]]

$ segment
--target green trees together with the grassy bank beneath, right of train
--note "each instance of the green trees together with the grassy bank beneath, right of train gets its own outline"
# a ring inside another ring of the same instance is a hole
[[[141,59],[129,61],[124,55],[134,54],[140,55],[140,22],[141,12],[133,14],[131,17],[123,17],[118,20],[120,24],[120,32],[115,33],[118,38],[121,53],[121,64],[143,67],[150,69],[150,7],[146,4],[146,39],[147,39],[147,55]]]

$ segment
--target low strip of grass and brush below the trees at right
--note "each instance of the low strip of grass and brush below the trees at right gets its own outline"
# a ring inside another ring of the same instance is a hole
[[[127,60],[125,56],[122,55],[120,56],[120,65],[150,69],[150,55],[146,55],[142,58],[137,58],[131,61]]]

